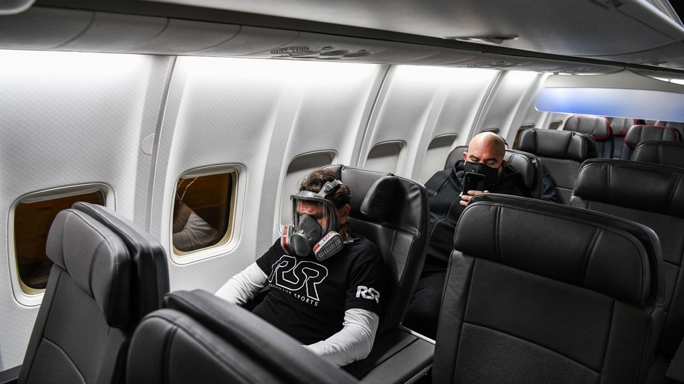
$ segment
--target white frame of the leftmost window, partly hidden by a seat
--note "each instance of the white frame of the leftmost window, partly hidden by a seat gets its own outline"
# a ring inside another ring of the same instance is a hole
[[[16,210],[19,204],[36,203],[69,196],[83,195],[87,193],[102,193],[104,206],[115,209],[115,193],[111,186],[105,183],[83,183],[72,186],[43,189],[41,191],[26,193],[17,198],[9,209],[7,220],[7,247],[9,255],[9,272],[14,299],[24,306],[39,306],[43,302],[45,289],[35,289],[26,286],[19,277],[19,264],[16,255],[16,239],[14,237],[14,223]],[[28,291],[28,292],[27,292]]]

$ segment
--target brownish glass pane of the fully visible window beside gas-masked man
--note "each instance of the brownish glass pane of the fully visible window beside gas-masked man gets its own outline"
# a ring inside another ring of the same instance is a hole
[[[187,172],[176,183],[172,244],[176,255],[187,255],[230,239],[237,171],[197,175]]]

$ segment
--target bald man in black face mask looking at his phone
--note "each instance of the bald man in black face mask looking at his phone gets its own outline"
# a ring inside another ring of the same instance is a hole
[[[531,196],[520,173],[504,160],[504,145],[504,139],[497,134],[477,134],[470,140],[468,151],[463,152],[463,160],[452,169],[437,172],[425,183],[430,200],[427,256],[418,287],[404,317],[403,325],[408,329],[433,339],[437,334],[437,318],[454,231],[470,199],[490,192]],[[484,175],[483,191],[463,191],[466,172]]]

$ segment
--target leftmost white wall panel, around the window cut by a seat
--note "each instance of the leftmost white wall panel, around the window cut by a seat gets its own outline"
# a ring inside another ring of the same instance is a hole
[[[98,182],[113,188],[117,210],[137,215],[150,163],[140,141],[155,130],[166,63],[155,56],[0,53],[0,370],[23,360],[38,311],[19,304],[11,288],[11,207],[27,193]]]

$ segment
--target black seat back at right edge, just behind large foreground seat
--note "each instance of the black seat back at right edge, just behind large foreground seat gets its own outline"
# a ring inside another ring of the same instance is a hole
[[[572,206],[633,220],[658,234],[668,307],[658,354],[670,358],[684,336],[683,185],[684,169],[594,159],[580,169],[571,199]]]

